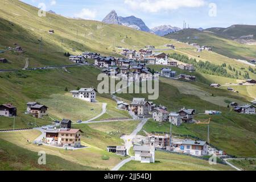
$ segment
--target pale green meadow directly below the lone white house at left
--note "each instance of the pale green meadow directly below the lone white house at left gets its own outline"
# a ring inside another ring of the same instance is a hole
[[[50,98],[36,100],[49,107],[49,114],[59,119],[68,118],[73,122],[87,121],[101,113],[102,103],[90,103],[73,98],[71,94],[53,94]]]

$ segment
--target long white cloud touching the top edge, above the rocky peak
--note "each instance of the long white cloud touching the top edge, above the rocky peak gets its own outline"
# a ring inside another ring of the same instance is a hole
[[[125,0],[125,4],[133,10],[157,13],[181,7],[201,7],[205,5],[205,0]]]

